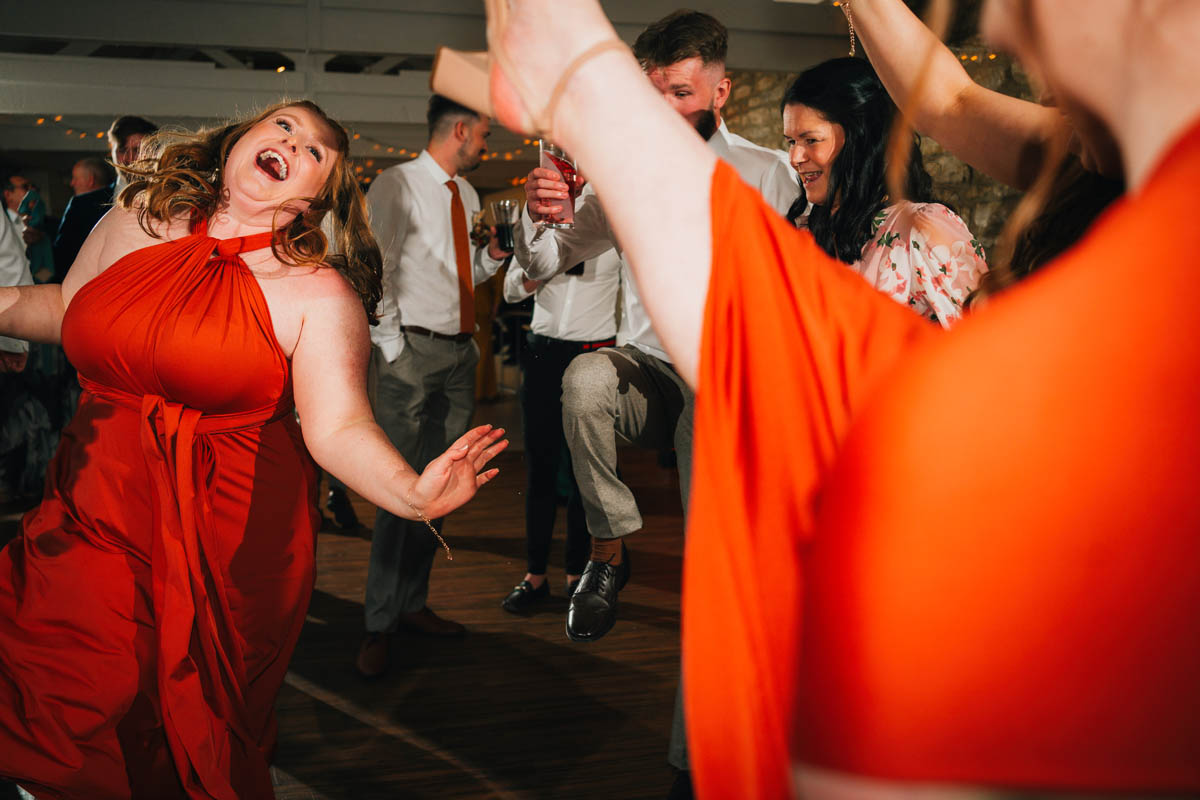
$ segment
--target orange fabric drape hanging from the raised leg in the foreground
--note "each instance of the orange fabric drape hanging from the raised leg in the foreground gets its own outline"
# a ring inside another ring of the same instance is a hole
[[[701,796],[784,798],[821,480],[880,377],[938,333],[724,163],[712,197],[684,567],[689,746]]]

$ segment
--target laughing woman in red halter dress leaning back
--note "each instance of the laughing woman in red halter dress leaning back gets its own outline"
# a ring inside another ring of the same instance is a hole
[[[371,416],[379,252],[347,154],[308,102],[185,137],[61,287],[0,289],[0,330],[61,338],[84,389],[0,552],[0,775],[37,798],[272,796],[312,458],[412,518],[494,475],[478,473],[499,432],[416,475]],[[326,258],[326,213],[343,255]]]

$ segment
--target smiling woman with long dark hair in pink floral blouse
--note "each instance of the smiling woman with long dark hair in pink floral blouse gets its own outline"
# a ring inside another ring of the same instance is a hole
[[[780,110],[802,188],[788,218],[806,224],[826,253],[896,301],[942,325],[958,319],[988,270],[983,247],[954,211],[934,201],[917,142],[906,197],[888,197],[887,146],[896,108],[871,65],[833,59],[806,70],[784,94]]]

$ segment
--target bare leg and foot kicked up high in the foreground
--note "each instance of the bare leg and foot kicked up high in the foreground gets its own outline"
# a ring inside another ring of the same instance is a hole
[[[492,42],[509,65],[503,78],[492,79],[497,119],[509,128],[529,130],[530,114],[544,112],[564,70],[605,41],[619,40],[595,2],[514,4]],[[584,164],[654,329],[679,374],[695,385],[712,269],[709,198],[716,155],[667,106],[632,54],[616,47],[598,50],[570,74],[548,137]],[[536,106],[532,112],[510,83],[514,78]],[[544,277],[523,266],[529,277]]]

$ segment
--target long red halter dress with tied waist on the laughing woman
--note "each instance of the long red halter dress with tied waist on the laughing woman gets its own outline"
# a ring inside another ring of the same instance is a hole
[[[83,396],[0,552],[0,775],[38,798],[270,798],[313,585],[316,471],[239,253],[119,259],[62,321]]]

